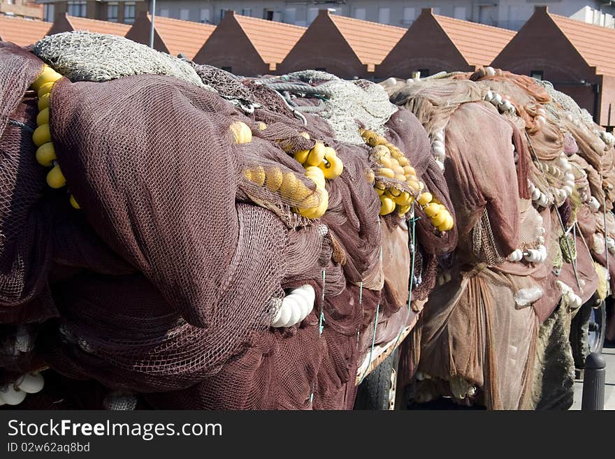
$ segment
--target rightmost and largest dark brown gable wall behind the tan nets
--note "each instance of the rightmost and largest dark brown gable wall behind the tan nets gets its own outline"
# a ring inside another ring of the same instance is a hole
[[[544,11],[537,11],[526,22],[491,65],[521,75],[542,71],[544,80],[595,115],[593,85],[600,83],[601,77]]]

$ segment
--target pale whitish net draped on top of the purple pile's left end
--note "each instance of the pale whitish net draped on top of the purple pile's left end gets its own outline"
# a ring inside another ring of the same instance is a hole
[[[187,62],[120,36],[64,32],[36,42],[33,52],[73,82],[170,75],[213,91]]]

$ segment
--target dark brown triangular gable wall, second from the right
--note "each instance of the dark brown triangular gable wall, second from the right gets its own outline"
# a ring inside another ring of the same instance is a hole
[[[382,64],[376,66],[375,78],[412,78],[412,72],[421,69],[428,71],[421,76],[474,70],[431,14],[421,15],[412,24]]]

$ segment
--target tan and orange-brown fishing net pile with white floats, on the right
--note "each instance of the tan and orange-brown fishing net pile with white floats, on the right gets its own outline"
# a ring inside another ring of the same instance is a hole
[[[615,138],[549,83],[489,67],[382,85],[424,126],[456,212],[413,330],[417,400],[541,405],[545,333],[572,393],[570,319],[614,286]]]

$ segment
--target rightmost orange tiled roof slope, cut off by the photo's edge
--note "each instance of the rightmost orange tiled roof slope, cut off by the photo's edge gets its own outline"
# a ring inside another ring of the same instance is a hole
[[[557,27],[589,66],[600,75],[615,75],[615,30],[549,13]]]

